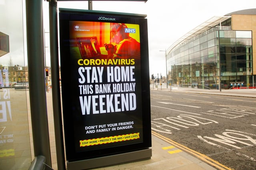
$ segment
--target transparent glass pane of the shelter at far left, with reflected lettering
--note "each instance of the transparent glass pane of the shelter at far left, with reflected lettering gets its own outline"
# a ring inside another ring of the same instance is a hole
[[[31,162],[28,74],[22,0],[0,1],[0,167],[28,169]]]

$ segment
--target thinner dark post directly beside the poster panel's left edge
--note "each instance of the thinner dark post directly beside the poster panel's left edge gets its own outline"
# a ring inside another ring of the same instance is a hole
[[[49,1],[50,23],[50,61],[52,76],[52,107],[54,118],[54,133],[58,170],[65,170],[64,139],[62,130],[61,100],[60,100],[60,74],[58,59],[58,14],[57,1]]]

